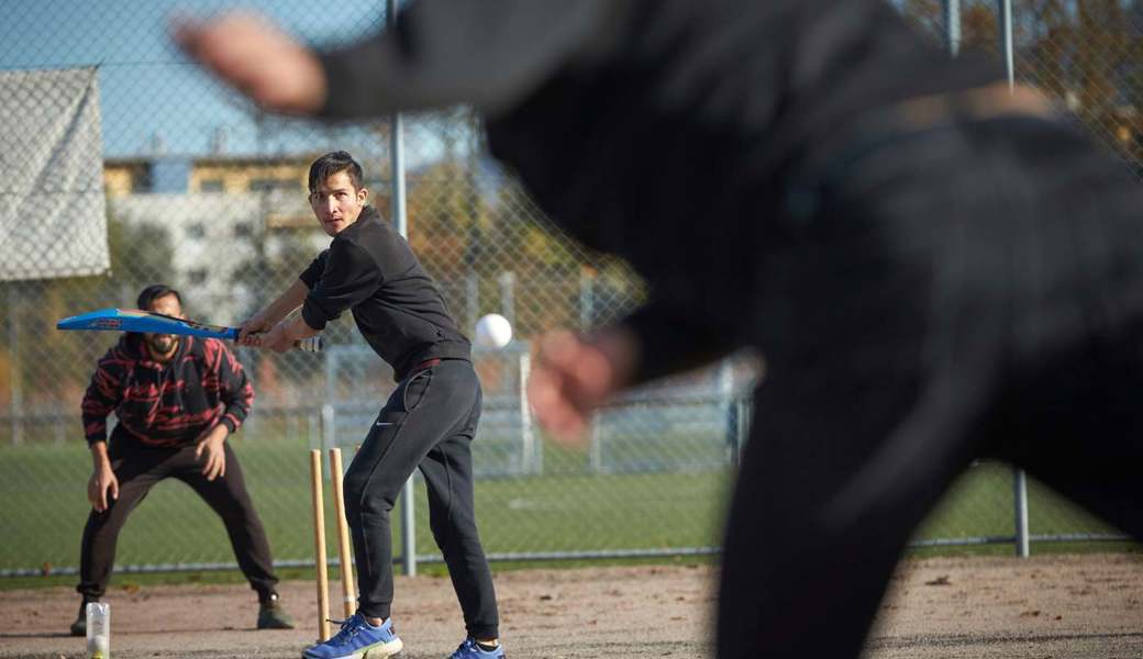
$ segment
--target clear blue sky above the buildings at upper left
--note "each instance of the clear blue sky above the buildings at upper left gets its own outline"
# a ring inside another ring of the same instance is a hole
[[[369,127],[335,131],[272,120],[259,130],[245,102],[171,45],[170,17],[239,6],[261,10],[313,43],[352,40],[384,21],[382,0],[0,0],[0,71],[98,65],[109,158],[147,155],[157,142],[168,155],[199,155],[209,152],[218,134],[231,154],[283,153],[347,138],[369,142],[375,135]]]

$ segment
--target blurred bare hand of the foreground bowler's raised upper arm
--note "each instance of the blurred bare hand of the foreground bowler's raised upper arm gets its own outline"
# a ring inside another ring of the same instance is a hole
[[[176,21],[175,42],[191,58],[270,112],[313,114],[326,102],[326,73],[312,50],[253,14]]]

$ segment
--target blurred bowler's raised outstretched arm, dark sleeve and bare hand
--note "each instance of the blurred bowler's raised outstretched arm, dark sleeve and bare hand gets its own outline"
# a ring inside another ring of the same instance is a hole
[[[382,115],[466,103],[495,113],[620,39],[630,0],[422,0],[395,30],[317,53],[263,18],[184,21],[176,42],[271,112]]]

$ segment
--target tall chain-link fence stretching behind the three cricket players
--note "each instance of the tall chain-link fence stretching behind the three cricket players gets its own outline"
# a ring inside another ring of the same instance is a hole
[[[225,5],[200,2],[195,11]],[[353,39],[384,21],[375,0],[261,6],[318,43]],[[897,6],[944,39],[945,6]],[[1137,164],[1143,14],[1117,0],[1015,6],[1018,77],[1063,99]],[[997,50],[996,5],[958,8],[960,48]],[[58,319],[134,306],[144,286],[166,282],[183,291],[191,318],[235,324],[328,243],[305,190],[309,163],[327,151],[344,148],[362,162],[373,203],[389,215],[387,121],[326,126],[261,115],[174,51],[166,30],[176,9],[174,0],[5,8],[2,574],[70,571],[79,561],[91,472],[79,404],[96,360],[118,336],[57,332]],[[402,137],[413,249],[465,331],[489,312],[509,318],[515,331],[505,351],[475,355],[486,394],[473,449],[486,549],[517,558],[714,550],[758,362],[741,356],[633,392],[598,416],[583,449],[550,442],[522,396],[530,341],[553,327],[586,329],[621,318],[642,299],[642,283],[623,263],[551,231],[517,182],[486,155],[470,112],[407,118]],[[74,231],[93,226],[87,216],[104,200],[106,240],[102,227],[99,236]],[[326,340],[320,355],[237,351],[257,399],[230,441],[282,564],[313,560],[307,449],[352,451],[392,388],[387,368],[347,320],[333,323]],[[418,497],[423,501],[423,492]],[[1031,499],[1038,536],[1109,531],[1034,487]],[[997,465],[974,467],[918,540],[1012,541],[1013,508],[1012,474]],[[432,557],[423,505],[416,514],[416,553]],[[168,481],[131,515],[117,563],[230,565],[233,556],[218,519]]]

